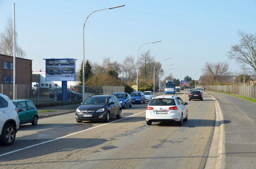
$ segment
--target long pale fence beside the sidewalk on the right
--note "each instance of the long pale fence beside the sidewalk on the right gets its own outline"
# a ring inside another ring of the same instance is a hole
[[[202,86],[202,85],[197,85],[196,87],[205,87],[205,91],[217,91],[217,92],[225,92],[225,93],[232,93],[232,94],[237,94],[240,96],[245,96],[249,97],[252,99],[256,99],[256,86],[252,85],[207,85],[207,86]]]

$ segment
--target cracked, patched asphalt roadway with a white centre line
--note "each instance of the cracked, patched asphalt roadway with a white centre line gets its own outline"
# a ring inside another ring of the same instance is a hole
[[[183,126],[147,126],[148,102],[123,109],[121,120],[110,123],[76,123],[70,113],[40,119],[37,126],[21,125],[14,144],[0,146],[0,168],[204,168],[215,124],[214,101],[208,95],[204,101],[188,101],[184,92],[178,92],[189,103]]]

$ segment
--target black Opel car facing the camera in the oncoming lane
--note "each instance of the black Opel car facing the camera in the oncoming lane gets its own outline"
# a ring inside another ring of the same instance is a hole
[[[113,95],[94,95],[84,101],[84,103],[76,109],[76,121],[104,120],[116,117],[120,119],[122,116],[121,103],[116,96]]]

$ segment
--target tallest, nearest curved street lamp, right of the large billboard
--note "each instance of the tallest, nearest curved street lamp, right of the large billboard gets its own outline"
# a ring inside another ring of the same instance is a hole
[[[115,8],[119,8],[119,7],[123,7],[124,5],[119,5],[119,6],[114,6],[114,7],[110,7],[110,8],[104,8],[104,9],[100,9],[100,10],[96,10],[96,11],[93,11],[92,13],[94,12],[97,12],[97,11],[102,11],[102,10],[105,10],[105,9],[115,9]],[[92,14],[90,13],[88,15],[88,17],[85,19],[84,21],[84,26],[85,26],[85,22],[86,20],[89,18],[89,16]],[[84,102],[84,26],[83,26],[83,88],[82,88],[82,91],[83,91],[83,102]]]

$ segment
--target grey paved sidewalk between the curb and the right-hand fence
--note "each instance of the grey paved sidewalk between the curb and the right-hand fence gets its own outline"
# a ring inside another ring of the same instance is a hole
[[[218,99],[224,117],[226,168],[256,168],[256,103],[208,93]]]

